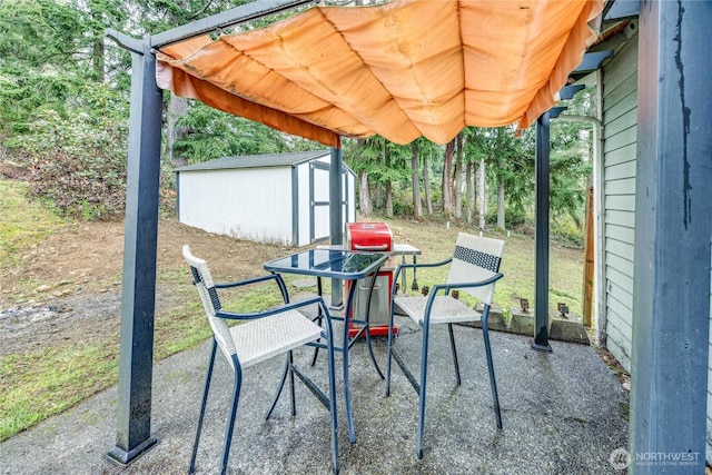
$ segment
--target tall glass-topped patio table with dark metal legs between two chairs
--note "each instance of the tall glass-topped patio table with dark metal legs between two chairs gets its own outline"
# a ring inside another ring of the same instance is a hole
[[[370,307],[370,296],[373,294],[373,287],[374,283],[376,281],[378,269],[380,269],[380,266],[383,266],[387,259],[388,255],[382,253],[359,253],[339,249],[309,249],[265,263],[264,268],[265,270],[273,274],[299,274],[314,276],[317,278],[317,291],[319,295],[322,295],[323,277],[356,281],[358,279],[372,276],[368,300],[366,305],[366,308],[368,309]],[[349,286],[348,296],[346,297],[344,316],[335,316],[330,313],[328,315],[328,318],[332,318],[333,320],[344,321],[344,337],[342,340],[342,345],[335,346],[334,349],[342,352],[344,355],[344,397],[346,399],[348,437],[352,443],[356,442],[356,433],[354,431],[354,417],[352,413],[352,397],[349,387],[350,385],[348,379],[348,349],[360,337],[360,335],[366,336],[366,343],[368,345],[370,359],[374,363],[376,370],[383,378],[383,373],[380,372],[380,368],[378,368],[378,364],[376,363],[376,358],[370,346],[370,335],[369,331],[367,331],[368,311],[366,311],[365,320],[349,318],[349,316],[352,315],[356,287],[358,286]],[[318,317],[322,318],[323,316],[319,315]],[[353,337],[349,337],[349,323],[357,323],[362,325],[360,330]]]

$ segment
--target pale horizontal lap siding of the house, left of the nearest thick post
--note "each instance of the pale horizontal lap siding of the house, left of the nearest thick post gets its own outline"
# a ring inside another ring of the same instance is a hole
[[[630,372],[637,135],[637,38],[603,75],[606,346]]]

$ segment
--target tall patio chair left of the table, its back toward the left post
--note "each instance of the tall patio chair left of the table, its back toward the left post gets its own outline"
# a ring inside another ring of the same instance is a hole
[[[237,415],[237,405],[240,396],[240,387],[243,384],[243,370],[257,363],[265,362],[268,358],[280,354],[286,354],[286,362],[281,380],[277,388],[277,393],[271,403],[271,407],[267,412],[267,418],[271,415],[281,390],[289,377],[291,415],[296,415],[295,406],[295,384],[294,376],[301,379],[305,385],[317,396],[319,402],[330,413],[330,434],[332,434],[332,467],[333,472],[338,473],[338,444],[337,444],[337,420],[336,420],[336,388],[334,373],[334,339],[333,328],[329,318],[325,318],[325,328],[323,329],[298,309],[306,306],[317,305],[324,315],[328,315],[322,297],[305,299],[290,304],[287,287],[281,276],[274,274],[263,277],[256,277],[248,280],[235,281],[229,284],[215,284],[205,260],[195,257],[190,248],[186,245],[182,248],[182,255],[192,273],[194,284],[200,295],[200,300],[205,307],[205,311],[212,329],[212,349],[208,363],[208,369],[205,380],[205,389],[202,393],[202,403],[200,405],[200,415],[198,417],[198,428],[196,431],[195,443],[192,446],[192,455],[190,457],[189,473],[195,472],[196,456],[198,454],[198,443],[200,441],[200,431],[205,417],[206,404],[208,400],[208,392],[212,378],[212,368],[215,364],[215,355],[219,347],[227,358],[234,373],[233,397],[228,423],[225,432],[225,445],[222,447],[221,473],[227,469],[228,457],[230,455],[230,444],[233,441],[233,431]],[[233,287],[243,287],[250,285],[259,285],[274,280],[279,287],[279,291],[284,298],[284,305],[263,310],[258,313],[231,313],[222,309],[218,297],[218,289]],[[238,325],[228,326],[228,320],[245,320]],[[300,369],[293,364],[293,349],[303,345],[317,346],[326,349],[328,359],[328,397],[313,383]]]

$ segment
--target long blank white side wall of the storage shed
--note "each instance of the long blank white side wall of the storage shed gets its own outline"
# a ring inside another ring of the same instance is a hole
[[[181,222],[238,239],[291,244],[290,167],[182,171],[179,180]]]

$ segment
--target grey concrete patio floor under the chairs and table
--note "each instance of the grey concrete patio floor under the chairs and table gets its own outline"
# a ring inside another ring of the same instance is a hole
[[[398,318],[397,345],[417,372],[421,334]],[[629,397],[593,348],[552,342],[553,353],[531,349],[531,338],[492,331],[503,429],[494,422],[482,331],[457,327],[462,386],[453,376],[446,329],[432,333],[425,455],[415,455],[417,395],[394,367],[390,397],[364,343],[350,353],[355,444],[348,443],[340,373],[338,434],[342,474],[622,474],[610,458],[627,447]],[[385,370],[385,338],[374,342]],[[197,420],[209,343],[155,365],[151,451],[127,467],[106,461],[116,441],[117,388],[110,388],[31,431],[0,444],[3,474],[186,473]],[[307,365],[312,353],[299,350]],[[337,365],[340,356],[337,356]],[[297,384],[297,416],[283,397],[265,414],[283,358],[245,372],[229,473],[328,474],[328,413]],[[325,358],[308,374],[324,386]],[[197,473],[218,472],[231,377],[216,367]]]

